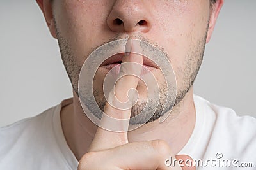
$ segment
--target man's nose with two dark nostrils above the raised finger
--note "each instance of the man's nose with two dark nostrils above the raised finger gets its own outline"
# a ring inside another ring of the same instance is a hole
[[[115,32],[148,32],[152,24],[150,18],[145,1],[116,0],[107,24]]]

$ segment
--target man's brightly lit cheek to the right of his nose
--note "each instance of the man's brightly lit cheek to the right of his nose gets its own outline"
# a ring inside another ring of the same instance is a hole
[[[157,22],[152,27],[150,39],[166,50],[176,71],[184,67],[189,52],[204,38],[209,19],[209,6],[201,1],[175,1],[172,6],[157,11]]]

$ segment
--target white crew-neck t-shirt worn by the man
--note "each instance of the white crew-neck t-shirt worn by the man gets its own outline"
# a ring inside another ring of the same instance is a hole
[[[194,100],[195,129],[180,154],[196,160],[197,169],[256,169],[256,119],[239,117],[198,96]],[[72,99],[67,99],[36,117],[1,128],[0,169],[77,169],[60,121],[61,108],[70,103]]]

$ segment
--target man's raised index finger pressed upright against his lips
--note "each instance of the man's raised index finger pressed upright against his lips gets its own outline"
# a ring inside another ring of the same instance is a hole
[[[119,73],[119,76],[121,78],[116,81],[115,87],[113,87],[111,93],[108,96],[108,102],[106,102],[106,105],[104,107],[105,114],[102,114],[100,125],[97,129],[97,132],[95,133],[95,137],[88,152],[114,148],[116,146],[128,143],[127,130],[129,127],[129,118],[131,117],[131,108],[122,110],[118,109],[118,107],[113,107],[113,105],[116,106],[116,103],[129,104],[133,100],[134,95],[136,94],[136,92],[131,89],[136,90],[139,78],[129,73],[141,73],[143,57],[137,53],[132,53],[132,51],[140,51],[140,49],[138,48],[140,48],[140,44],[138,43],[138,41],[132,41],[132,39],[127,40],[127,43],[125,45],[126,53],[122,59]],[[133,62],[135,64],[129,64],[128,62]],[[113,103],[110,104],[109,101]],[[120,119],[120,121],[118,121],[118,124],[111,124],[112,118]],[[114,132],[102,128],[109,127],[111,125],[118,126],[116,127],[116,129],[121,129],[122,131]]]

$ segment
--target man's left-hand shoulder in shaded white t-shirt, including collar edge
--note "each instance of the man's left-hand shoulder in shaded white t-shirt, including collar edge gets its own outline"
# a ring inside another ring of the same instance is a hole
[[[0,169],[76,169],[60,119],[61,108],[70,103],[65,99],[36,117],[0,128]]]

